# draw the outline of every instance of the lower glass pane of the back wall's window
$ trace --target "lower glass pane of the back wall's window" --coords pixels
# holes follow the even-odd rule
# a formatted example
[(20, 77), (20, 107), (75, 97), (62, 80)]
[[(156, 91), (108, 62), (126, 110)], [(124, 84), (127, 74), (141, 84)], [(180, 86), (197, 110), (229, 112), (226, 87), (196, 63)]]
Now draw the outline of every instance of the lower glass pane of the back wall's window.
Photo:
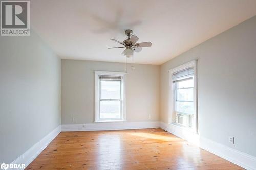
[(121, 101), (100, 101), (100, 119), (120, 119)]

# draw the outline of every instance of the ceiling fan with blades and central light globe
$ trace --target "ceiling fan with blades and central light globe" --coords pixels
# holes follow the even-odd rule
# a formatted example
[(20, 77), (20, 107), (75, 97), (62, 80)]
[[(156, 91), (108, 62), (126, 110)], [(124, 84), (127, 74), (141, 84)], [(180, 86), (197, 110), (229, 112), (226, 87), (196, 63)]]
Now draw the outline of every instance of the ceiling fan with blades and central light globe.
[(125, 34), (128, 36), (128, 39), (124, 40), (123, 42), (117, 41), (115, 39), (111, 39), (112, 41), (115, 41), (123, 46), (121, 47), (112, 47), (108, 49), (114, 49), (114, 48), (125, 48), (125, 50), (122, 52), (122, 54), (126, 57), (132, 57), (133, 52), (140, 52), (143, 47), (151, 47), (151, 42), (141, 42), (136, 43), (139, 38), (133, 34), (133, 30), (125, 30)]

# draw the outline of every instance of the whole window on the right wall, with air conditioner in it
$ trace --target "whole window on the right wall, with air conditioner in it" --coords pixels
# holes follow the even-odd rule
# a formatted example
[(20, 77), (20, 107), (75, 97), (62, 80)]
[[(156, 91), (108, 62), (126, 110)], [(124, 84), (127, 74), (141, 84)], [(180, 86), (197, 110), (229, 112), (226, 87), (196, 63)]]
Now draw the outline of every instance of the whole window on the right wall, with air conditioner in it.
[(197, 132), (196, 61), (169, 71), (169, 122)]

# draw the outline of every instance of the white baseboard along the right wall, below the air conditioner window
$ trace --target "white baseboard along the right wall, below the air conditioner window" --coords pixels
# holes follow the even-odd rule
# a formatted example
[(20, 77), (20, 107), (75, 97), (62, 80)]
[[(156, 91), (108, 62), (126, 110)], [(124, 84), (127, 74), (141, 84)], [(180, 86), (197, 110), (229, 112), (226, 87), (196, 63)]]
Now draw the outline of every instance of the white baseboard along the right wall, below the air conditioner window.
[(248, 155), (233, 148), (227, 147), (223, 144), (204, 138), (198, 134), (184, 130), (183, 128), (175, 126), (173, 124), (161, 122), (160, 127), (247, 170), (256, 170), (256, 157), (254, 156)]

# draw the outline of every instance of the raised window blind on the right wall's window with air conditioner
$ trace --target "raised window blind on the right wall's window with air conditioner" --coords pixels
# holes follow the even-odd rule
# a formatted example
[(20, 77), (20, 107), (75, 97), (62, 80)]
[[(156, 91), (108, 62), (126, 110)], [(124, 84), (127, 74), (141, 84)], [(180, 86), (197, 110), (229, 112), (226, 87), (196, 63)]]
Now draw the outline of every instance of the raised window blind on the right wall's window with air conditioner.
[(173, 83), (192, 79), (194, 75), (194, 68), (190, 67), (173, 74)]

